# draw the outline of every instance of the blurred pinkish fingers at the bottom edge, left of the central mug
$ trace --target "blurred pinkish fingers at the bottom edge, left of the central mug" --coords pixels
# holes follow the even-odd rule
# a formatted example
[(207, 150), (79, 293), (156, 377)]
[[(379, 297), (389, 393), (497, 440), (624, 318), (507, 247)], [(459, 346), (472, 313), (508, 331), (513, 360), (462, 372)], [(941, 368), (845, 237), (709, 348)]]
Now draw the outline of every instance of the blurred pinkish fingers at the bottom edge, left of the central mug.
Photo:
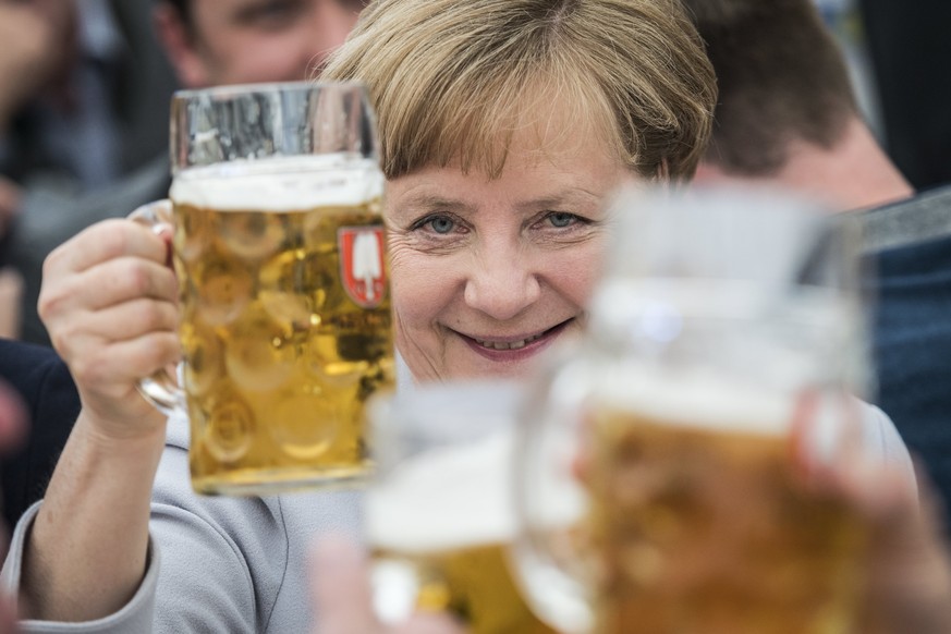
[(462, 634), (448, 614), (417, 614), (397, 626), (380, 624), (370, 601), (369, 564), (352, 541), (327, 537), (310, 558), (314, 634)]

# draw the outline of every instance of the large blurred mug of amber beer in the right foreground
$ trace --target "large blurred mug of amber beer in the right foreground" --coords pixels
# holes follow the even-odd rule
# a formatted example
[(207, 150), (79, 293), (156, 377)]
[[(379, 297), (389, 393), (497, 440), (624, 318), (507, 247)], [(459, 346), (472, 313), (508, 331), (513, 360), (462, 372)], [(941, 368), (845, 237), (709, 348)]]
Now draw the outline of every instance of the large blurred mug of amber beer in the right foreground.
[(585, 340), (519, 448), (533, 607), (573, 633), (854, 632), (866, 531), (804, 490), (793, 447), (830, 453), (857, 416), (856, 236), (766, 192), (614, 210)]

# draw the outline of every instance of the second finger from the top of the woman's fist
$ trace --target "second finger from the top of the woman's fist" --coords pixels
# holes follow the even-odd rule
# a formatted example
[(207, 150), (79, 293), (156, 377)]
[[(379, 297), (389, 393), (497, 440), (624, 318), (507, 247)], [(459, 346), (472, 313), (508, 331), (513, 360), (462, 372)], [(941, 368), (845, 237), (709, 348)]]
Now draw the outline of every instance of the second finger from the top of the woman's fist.
[(44, 321), (72, 317), (75, 308), (97, 310), (138, 297), (174, 301), (175, 273), (161, 263), (120, 257), (80, 273), (50, 279), (40, 290), (39, 315)]

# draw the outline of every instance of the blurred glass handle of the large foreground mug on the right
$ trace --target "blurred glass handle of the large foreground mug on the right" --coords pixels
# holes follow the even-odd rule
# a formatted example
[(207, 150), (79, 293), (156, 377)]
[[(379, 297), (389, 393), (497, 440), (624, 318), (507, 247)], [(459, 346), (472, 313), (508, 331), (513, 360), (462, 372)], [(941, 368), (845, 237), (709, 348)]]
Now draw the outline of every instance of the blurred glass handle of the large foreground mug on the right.
[[(558, 361), (558, 359), (556, 359)], [(549, 625), (586, 634), (594, 625), (589, 570), (578, 535), (588, 495), (581, 481), (584, 403), (593, 374), (586, 359), (548, 366), (529, 395), (515, 464), (517, 535), (511, 563), (526, 601)]]

